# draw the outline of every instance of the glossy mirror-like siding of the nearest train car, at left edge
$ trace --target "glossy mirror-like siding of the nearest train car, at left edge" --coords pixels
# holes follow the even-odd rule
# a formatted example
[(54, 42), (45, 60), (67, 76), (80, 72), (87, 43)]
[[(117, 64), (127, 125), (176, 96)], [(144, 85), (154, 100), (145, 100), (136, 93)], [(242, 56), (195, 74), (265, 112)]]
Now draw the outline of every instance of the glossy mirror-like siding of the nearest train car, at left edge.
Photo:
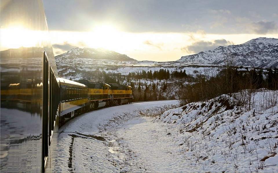
[[(48, 156), (48, 167), (54, 165), (55, 158), (50, 157), (55, 157), (55, 148), (51, 146), (56, 145), (50, 146), (50, 141), (55, 143), (57, 137), (54, 123), (57, 121), (57, 113), (54, 111), (57, 103), (49, 103), (50, 100), (58, 99), (47, 98), (44, 103), (47, 105), (47, 117), (44, 119), (44, 83), (52, 82), (45, 85), (47, 93), (58, 91), (55, 81), (58, 74), (52, 46), (48, 40), (43, 4), (41, 1), (33, 0), (1, 0), (0, 16), (0, 169), (1, 172), (41, 172), (44, 171), (44, 156)], [(45, 82), (44, 52), (49, 65)], [(46, 131), (43, 131), (43, 120), (46, 123)]]

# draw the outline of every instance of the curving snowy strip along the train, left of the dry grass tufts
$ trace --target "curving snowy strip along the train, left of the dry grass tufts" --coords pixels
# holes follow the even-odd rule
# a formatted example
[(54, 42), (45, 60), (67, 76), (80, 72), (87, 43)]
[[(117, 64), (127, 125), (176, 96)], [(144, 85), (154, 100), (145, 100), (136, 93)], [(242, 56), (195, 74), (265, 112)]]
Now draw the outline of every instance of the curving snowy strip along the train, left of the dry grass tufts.
[(59, 129), (55, 172), (120, 172), (123, 158), (111, 149), (114, 130), (127, 120), (138, 118), (138, 109), (172, 104), (178, 101), (132, 103), (99, 109), (70, 120)]

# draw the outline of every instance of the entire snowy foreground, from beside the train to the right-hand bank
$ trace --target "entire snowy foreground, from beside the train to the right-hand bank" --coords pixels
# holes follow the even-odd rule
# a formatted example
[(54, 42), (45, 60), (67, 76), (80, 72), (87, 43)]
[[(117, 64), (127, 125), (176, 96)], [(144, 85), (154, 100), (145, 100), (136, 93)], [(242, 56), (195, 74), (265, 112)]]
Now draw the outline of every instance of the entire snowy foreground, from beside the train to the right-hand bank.
[(178, 101), (156, 101), (79, 116), (60, 129), (55, 170), (278, 172), (278, 91), (251, 94), (250, 109), (238, 105), (244, 92), (178, 108), (171, 105)]

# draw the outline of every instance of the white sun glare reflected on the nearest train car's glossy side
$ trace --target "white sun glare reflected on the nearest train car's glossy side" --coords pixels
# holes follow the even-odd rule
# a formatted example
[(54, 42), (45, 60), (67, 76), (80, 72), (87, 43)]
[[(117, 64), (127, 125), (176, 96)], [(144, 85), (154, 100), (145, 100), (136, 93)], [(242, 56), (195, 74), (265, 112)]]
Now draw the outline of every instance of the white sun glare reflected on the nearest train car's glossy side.
[(1, 28), (1, 51), (41, 46), (41, 40), (47, 40), (47, 34), (46, 31), (34, 31), (22, 26)]

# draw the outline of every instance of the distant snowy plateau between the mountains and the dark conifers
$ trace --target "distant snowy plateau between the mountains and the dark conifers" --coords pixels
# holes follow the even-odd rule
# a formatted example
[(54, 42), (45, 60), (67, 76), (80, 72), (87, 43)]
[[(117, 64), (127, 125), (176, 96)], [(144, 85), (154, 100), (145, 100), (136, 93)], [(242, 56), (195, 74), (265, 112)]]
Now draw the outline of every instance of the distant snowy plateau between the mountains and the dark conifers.
[[(216, 75), (223, 67), (211, 64), (184, 64), (180, 62), (149, 62), (149, 61), (113, 61), (101, 59), (56, 59), (58, 73), (61, 77), (72, 78), (73, 80), (83, 79), (87, 73), (94, 74), (95, 70), (106, 73), (120, 73), (128, 75), (129, 72), (146, 72), (160, 69), (169, 70), (170, 73), (175, 70), (185, 70), (186, 74), (196, 75)], [(74, 65), (73, 65), (74, 64)]]

